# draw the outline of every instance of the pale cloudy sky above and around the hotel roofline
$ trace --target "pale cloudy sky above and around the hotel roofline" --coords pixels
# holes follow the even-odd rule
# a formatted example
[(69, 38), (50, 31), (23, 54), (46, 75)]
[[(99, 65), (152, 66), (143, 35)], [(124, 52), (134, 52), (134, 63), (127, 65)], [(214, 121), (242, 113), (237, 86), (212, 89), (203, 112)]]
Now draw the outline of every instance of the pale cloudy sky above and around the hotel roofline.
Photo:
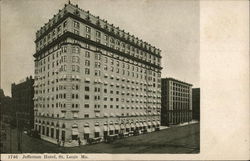
[[(35, 33), (68, 0), (1, 1), (1, 88), (34, 76)], [(200, 86), (199, 1), (71, 0), (162, 50), (162, 77)]]

